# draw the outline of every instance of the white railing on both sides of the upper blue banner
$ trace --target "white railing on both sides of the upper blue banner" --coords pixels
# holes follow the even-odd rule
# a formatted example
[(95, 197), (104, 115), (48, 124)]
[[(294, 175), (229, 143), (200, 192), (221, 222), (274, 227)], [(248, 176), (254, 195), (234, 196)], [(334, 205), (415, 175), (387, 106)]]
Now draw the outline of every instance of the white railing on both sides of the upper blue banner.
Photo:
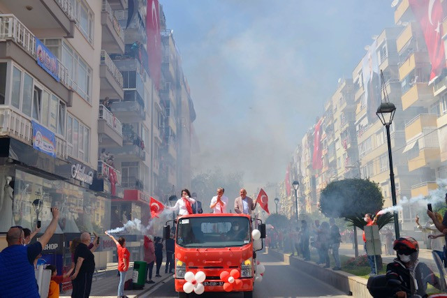
[[(36, 36), (34, 36), (15, 15), (0, 15), (0, 40), (13, 40), (28, 54), (36, 59)], [(71, 77), (68, 69), (57, 59), (57, 74), (66, 87), (71, 88)]]

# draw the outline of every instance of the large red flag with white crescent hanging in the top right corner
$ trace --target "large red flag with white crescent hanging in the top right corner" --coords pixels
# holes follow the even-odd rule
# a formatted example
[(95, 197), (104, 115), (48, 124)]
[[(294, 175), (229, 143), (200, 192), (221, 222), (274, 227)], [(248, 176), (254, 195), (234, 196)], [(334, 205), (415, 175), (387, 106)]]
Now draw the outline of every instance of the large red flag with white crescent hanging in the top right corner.
[(428, 57), (432, 64), (432, 71), (430, 73), (431, 82), (441, 74), (443, 68), (446, 68), (444, 42), (442, 40), (442, 36), (444, 35), (442, 29), (444, 12), (442, 10), (441, 0), (409, 0), (409, 4), (424, 33)]

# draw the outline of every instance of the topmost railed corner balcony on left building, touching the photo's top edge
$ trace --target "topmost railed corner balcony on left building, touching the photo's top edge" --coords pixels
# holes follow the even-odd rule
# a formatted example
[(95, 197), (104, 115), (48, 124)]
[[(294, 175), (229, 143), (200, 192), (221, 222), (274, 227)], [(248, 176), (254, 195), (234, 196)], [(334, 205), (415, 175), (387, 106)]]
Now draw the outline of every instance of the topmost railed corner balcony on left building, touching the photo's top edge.
[(110, 53), (124, 53), (124, 30), (119, 24), (107, 0), (103, 0), (101, 11), (103, 36), (101, 47)]

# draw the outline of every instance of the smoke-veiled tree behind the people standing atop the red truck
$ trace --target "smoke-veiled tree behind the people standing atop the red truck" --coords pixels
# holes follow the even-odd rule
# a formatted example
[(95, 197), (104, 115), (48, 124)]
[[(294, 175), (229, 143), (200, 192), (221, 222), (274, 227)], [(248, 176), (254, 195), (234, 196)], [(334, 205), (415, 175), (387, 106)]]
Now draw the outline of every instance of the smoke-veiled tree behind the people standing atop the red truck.
[(215, 167), (213, 171), (197, 174), (191, 180), (191, 193), (197, 193), (198, 200), (202, 202), (203, 211), (210, 211), (211, 198), (216, 195), (217, 188), (225, 188), (225, 195), (230, 199), (227, 211), (233, 209), (234, 198), (239, 196), (239, 191), (243, 187), (243, 173), (234, 172), (223, 174), (220, 167)]

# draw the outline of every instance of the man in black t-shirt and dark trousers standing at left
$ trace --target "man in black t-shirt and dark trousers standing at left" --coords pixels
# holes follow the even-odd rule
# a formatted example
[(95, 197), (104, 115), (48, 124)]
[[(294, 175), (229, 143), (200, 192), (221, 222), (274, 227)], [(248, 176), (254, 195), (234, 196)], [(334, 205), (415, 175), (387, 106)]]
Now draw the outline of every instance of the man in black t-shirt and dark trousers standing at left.
[(89, 297), (91, 279), (95, 271), (95, 258), (87, 245), (91, 242), (88, 232), (81, 234), (81, 243), (75, 250), (75, 273), (71, 276), (73, 291), (71, 297)]

